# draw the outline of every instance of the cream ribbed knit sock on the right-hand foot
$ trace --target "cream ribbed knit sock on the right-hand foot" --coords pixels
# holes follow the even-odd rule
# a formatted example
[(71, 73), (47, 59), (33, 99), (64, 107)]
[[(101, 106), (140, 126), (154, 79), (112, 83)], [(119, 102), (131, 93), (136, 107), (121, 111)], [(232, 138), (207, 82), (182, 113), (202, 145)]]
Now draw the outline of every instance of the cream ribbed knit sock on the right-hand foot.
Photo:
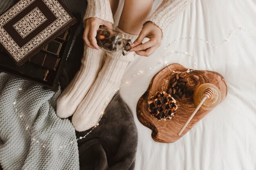
[[(121, 31), (117, 28), (117, 31)], [(124, 33), (126, 39), (132, 42), (137, 35)], [(121, 85), (121, 79), (129, 62), (133, 60), (134, 53), (123, 56), (121, 53), (106, 53), (106, 61), (99, 75), (92, 85), (92, 88), (79, 104), (72, 117), (72, 124), (77, 131), (84, 131), (92, 128), (99, 121), (102, 113), (115, 95)]]

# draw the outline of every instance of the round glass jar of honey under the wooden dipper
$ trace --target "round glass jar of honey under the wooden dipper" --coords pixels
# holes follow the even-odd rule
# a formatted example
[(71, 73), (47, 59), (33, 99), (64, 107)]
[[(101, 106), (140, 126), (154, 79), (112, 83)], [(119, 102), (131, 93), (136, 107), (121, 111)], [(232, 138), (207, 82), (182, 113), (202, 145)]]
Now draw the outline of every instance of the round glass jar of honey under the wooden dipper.
[(198, 104), (200, 104), (200, 102), (204, 98), (203, 93), (206, 88), (211, 88), (214, 91), (214, 93), (209, 99), (206, 99), (204, 101), (201, 108), (203, 108), (204, 110), (211, 110), (220, 103), (220, 99), (221, 99), (220, 90), (214, 84), (204, 83), (204, 84), (201, 84), (200, 86), (197, 86), (193, 93), (193, 99), (194, 99), (195, 105), (198, 106)]

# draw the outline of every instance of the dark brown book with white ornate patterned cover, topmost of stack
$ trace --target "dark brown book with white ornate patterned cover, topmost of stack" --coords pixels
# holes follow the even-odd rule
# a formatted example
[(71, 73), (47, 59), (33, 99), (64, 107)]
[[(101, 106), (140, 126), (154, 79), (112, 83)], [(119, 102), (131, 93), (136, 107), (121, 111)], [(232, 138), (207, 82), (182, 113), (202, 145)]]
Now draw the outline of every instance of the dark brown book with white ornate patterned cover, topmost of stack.
[(60, 0), (20, 0), (0, 16), (0, 46), (22, 65), (75, 22)]

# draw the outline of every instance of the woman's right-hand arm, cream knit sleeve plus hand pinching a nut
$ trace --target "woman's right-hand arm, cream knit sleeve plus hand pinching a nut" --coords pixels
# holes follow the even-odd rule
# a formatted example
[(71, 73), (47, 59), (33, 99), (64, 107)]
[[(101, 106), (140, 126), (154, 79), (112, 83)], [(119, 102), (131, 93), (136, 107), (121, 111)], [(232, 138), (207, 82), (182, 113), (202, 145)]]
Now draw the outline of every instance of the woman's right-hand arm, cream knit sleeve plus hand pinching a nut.
[[(163, 0), (157, 10), (146, 20), (137, 40), (131, 44), (130, 51), (136, 51), (138, 55), (149, 56), (161, 45), (161, 41), (171, 22), (184, 11), (192, 0)], [(148, 42), (142, 44), (144, 38)]]

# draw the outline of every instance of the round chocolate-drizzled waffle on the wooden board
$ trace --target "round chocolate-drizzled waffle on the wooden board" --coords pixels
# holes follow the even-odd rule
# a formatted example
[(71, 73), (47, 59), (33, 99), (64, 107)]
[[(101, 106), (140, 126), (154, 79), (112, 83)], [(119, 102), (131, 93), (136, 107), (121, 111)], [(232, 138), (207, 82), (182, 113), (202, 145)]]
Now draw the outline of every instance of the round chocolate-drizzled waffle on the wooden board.
[(148, 111), (152, 117), (158, 121), (172, 119), (178, 106), (176, 100), (165, 91), (157, 92), (155, 96), (150, 97), (148, 101)]

